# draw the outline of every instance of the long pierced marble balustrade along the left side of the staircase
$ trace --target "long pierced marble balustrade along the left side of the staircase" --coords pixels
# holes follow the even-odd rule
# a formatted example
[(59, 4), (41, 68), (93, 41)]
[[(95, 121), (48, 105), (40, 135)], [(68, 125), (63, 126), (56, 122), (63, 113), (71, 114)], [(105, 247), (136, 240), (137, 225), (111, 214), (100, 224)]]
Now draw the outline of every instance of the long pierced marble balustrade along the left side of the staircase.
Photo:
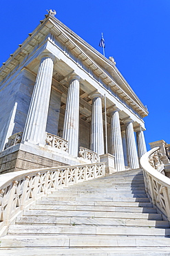
[(105, 163), (67, 165), (1, 174), (0, 235), (26, 205), (39, 199), (43, 194), (104, 175)]

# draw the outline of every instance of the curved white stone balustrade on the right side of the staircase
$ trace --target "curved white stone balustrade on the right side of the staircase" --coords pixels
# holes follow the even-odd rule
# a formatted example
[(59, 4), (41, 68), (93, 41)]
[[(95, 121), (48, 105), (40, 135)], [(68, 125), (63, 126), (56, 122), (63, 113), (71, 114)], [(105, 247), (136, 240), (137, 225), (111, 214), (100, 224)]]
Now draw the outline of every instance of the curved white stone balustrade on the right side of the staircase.
[(159, 147), (154, 147), (140, 158), (144, 171), (145, 190), (149, 194), (153, 205), (156, 205), (170, 221), (170, 179), (149, 163), (149, 157), (157, 152)]

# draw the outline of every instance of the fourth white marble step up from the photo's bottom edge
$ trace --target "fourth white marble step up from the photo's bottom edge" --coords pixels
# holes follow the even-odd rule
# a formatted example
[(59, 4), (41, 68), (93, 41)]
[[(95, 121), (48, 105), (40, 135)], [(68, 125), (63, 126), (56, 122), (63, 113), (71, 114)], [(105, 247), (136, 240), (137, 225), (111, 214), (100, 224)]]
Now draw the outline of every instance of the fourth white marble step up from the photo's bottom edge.
[(107, 219), (86, 217), (17, 217), (17, 224), (62, 224), (62, 225), (98, 225), (98, 226), (140, 226), (149, 228), (169, 228), (169, 221), (149, 221), (147, 219)]

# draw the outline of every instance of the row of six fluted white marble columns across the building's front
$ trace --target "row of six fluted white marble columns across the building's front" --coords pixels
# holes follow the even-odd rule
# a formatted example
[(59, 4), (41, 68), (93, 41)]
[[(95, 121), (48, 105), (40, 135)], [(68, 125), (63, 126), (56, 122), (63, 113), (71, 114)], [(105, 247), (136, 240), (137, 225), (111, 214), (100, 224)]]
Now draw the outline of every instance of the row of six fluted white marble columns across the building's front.
[[(47, 123), (55, 57), (51, 53), (42, 53), (40, 60), (39, 71), (36, 76), (22, 141), (30, 141), (43, 145), (45, 141), (45, 127)], [(69, 153), (72, 154), (72, 156), (78, 156), (80, 80), (81, 77), (78, 77), (78, 75), (70, 75), (70, 85), (65, 108), (63, 138), (68, 141)], [(90, 149), (101, 155), (105, 152), (102, 111), (103, 95), (95, 92), (90, 95), (90, 97), (92, 98)], [(139, 127), (139, 129), (136, 130), (135, 139), (133, 120), (125, 118), (122, 120), (125, 123), (125, 137), (123, 138), (120, 129), (119, 111), (120, 110), (115, 105), (109, 108), (111, 118), (111, 154), (115, 156), (116, 170), (125, 170), (125, 145), (129, 167), (133, 169), (138, 168), (138, 158), (147, 152), (144, 134), (141, 127)]]

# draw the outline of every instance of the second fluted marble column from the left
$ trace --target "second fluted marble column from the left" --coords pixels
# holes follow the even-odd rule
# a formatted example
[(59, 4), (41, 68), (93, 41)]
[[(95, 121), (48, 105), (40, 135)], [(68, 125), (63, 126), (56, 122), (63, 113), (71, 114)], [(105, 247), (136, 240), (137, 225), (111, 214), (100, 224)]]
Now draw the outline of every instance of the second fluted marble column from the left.
[(72, 156), (78, 156), (79, 80), (80, 77), (78, 75), (70, 76), (63, 128), (63, 138), (68, 141), (69, 153)]

